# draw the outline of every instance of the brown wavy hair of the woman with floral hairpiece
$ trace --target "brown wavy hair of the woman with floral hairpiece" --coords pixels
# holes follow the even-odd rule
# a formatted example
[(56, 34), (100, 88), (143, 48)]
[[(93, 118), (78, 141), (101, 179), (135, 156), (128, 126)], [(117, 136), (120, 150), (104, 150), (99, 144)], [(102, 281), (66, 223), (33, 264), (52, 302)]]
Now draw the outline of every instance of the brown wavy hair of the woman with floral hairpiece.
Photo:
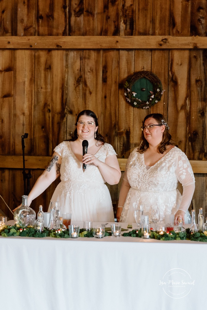
[[(166, 118), (162, 114), (160, 114), (160, 113), (152, 113), (152, 114), (147, 115), (144, 118), (142, 126), (144, 126), (144, 123), (145, 123), (146, 119), (150, 118), (150, 117), (153, 117), (158, 122), (159, 125), (163, 125), (162, 124), (162, 120), (164, 120), (164, 123), (167, 124), (167, 120), (166, 120)], [(168, 130), (169, 130), (169, 127), (165, 126), (165, 129), (164, 129), (164, 132), (163, 132), (163, 136), (162, 136), (162, 141), (160, 142), (160, 144), (157, 147), (158, 152), (161, 153), (161, 154), (164, 153), (164, 151), (167, 149), (168, 145), (175, 145), (175, 143), (173, 142), (172, 137), (169, 134)], [(139, 144), (137, 152), (142, 154), (142, 153), (144, 153), (148, 149), (148, 147), (149, 147), (149, 143), (145, 139), (144, 132), (142, 131), (141, 142)]]

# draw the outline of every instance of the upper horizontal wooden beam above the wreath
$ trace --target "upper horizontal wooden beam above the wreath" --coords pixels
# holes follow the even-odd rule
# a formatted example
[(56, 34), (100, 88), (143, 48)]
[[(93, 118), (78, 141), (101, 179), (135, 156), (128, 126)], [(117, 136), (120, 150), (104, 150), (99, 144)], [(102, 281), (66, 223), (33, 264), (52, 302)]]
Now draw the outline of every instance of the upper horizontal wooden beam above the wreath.
[(202, 49), (207, 37), (4, 36), (0, 49)]

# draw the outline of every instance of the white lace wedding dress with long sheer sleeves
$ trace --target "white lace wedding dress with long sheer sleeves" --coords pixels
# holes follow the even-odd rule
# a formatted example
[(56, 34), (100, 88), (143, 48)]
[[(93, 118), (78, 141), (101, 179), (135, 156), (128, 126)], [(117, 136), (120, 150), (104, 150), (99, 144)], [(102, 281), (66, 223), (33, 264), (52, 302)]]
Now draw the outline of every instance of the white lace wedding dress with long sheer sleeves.
[[(195, 189), (195, 178), (190, 162), (179, 148), (172, 148), (154, 166), (147, 167), (144, 154), (137, 148), (130, 154), (124, 179), (131, 188), (126, 197), (120, 222), (134, 223), (133, 203), (142, 203), (144, 214), (151, 215), (153, 206), (160, 210), (160, 222), (165, 214), (175, 214), (178, 209), (186, 211), (185, 224), (191, 223), (188, 207)], [(183, 195), (178, 191), (178, 181), (182, 184)]]

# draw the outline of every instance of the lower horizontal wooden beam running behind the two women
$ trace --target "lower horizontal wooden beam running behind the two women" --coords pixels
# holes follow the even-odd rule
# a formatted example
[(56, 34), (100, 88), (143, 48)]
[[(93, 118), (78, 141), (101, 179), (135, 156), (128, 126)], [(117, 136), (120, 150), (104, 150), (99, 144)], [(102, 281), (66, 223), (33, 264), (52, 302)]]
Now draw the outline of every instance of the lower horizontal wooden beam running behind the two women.
[[(45, 169), (51, 156), (25, 156), (26, 169)], [(127, 159), (118, 158), (121, 171), (125, 171)], [(207, 161), (190, 160), (194, 173), (207, 173)], [(22, 156), (4, 156), (0, 155), (0, 168), (23, 169)]]

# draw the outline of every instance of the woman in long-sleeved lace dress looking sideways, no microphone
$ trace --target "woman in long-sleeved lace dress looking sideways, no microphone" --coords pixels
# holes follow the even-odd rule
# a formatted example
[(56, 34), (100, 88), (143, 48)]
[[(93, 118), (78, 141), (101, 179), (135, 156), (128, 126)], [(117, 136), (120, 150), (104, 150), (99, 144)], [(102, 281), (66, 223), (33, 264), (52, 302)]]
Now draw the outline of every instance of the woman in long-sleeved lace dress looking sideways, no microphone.
[[(169, 126), (160, 113), (149, 114), (142, 125), (141, 142), (130, 154), (119, 193), (117, 221), (135, 222), (133, 203), (144, 205), (144, 214), (159, 208), (160, 222), (165, 214), (174, 214), (183, 224), (191, 223), (188, 211), (195, 190), (190, 162), (169, 134)], [(178, 182), (183, 193), (178, 191)]]

